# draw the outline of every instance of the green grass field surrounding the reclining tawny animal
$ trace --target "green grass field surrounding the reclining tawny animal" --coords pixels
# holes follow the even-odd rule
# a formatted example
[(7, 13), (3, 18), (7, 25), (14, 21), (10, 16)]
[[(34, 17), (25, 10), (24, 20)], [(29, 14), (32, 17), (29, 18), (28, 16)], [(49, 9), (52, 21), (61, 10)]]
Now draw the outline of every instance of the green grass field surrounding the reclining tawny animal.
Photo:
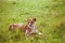
[[(9, 31), (10, 24), (31, 17), (44, 37)], [(65, 43), (65, 0), (0, 0), (0, 43)]]

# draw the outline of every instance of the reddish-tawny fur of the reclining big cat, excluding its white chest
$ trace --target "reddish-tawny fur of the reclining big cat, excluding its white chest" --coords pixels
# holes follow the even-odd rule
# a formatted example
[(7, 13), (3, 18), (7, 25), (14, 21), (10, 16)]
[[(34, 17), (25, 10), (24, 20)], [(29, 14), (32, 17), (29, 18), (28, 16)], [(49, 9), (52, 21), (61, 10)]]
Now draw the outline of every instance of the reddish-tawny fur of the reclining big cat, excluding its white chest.
[[(31, 19), (27, 19), (27, 24), (25, 24), (25, 25), (23, 25), (23, 24), (11, 24), (9, 26), (9, 30), (14, 31), (15, 29), (21, 29), (26, 34), (29, 34), (31, 32), (31, 29), (32, 29), (30, 27), (34, 26), (35, 22), (36, 22), (36, 18), (31, 18)], [(28, 27), (28, 26), (30, 26), (30, 27)]]

